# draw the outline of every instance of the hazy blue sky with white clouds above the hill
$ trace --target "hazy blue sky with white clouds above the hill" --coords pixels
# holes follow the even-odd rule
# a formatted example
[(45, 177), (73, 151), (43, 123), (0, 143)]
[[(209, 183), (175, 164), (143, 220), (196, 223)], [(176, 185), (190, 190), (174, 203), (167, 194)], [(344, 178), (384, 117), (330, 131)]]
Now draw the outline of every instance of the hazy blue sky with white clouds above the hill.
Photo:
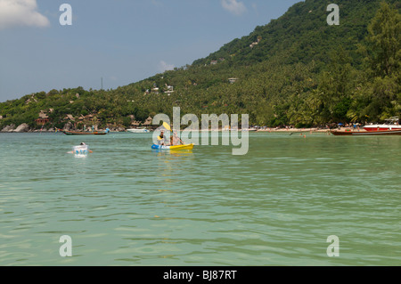
[[(299, 0), (0, 0), (0, 101), (191, 64)], [(61, 4), (72, 25), (61, 26)]]

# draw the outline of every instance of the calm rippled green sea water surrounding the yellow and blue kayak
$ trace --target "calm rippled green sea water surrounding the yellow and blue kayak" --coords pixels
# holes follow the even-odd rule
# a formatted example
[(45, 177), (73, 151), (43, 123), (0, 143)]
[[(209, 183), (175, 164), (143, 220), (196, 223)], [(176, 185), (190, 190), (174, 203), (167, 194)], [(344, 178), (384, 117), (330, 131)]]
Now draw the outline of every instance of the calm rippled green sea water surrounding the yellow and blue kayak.
[[(93, 153), (68, 154), (79, 142)], [(252, 133), (232, 149), (0, 134), (0, 265), (401, 264), (400, 136)]]

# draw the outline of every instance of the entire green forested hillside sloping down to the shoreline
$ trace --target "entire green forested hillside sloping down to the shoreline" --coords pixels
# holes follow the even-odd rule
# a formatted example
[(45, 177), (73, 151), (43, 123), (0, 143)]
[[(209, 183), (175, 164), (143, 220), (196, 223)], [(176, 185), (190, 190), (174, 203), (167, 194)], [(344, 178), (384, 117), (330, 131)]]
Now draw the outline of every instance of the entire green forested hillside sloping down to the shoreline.
[[(0, 129), (47, 117), (132, 126), (157, 113), (250, 114), (259, 126), (319, 126), (378, 121), (401, 111), (401, 4), (338, 0), (340, 25), (329, 25), (331, 1), (307, 0), (216, 53), (115, 90), (81, 87), (32, 93), (0, 103)], [(45, 115), (44, 115), (45, 113)]]

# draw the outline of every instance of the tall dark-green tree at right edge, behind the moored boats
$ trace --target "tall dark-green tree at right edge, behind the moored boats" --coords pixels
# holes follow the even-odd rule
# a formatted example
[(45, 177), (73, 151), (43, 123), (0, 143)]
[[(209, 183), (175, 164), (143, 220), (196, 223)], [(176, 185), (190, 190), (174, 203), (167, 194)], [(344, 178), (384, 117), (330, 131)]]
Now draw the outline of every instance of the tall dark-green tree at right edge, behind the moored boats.
[[(368, 27), (364, 47), (367, 70), (354, 98), (353, 110), (359, 117), (383, 120), (400, 114), (401, 15), (382, 2)], [(356, 111), (351, 111), (355, 115)]]

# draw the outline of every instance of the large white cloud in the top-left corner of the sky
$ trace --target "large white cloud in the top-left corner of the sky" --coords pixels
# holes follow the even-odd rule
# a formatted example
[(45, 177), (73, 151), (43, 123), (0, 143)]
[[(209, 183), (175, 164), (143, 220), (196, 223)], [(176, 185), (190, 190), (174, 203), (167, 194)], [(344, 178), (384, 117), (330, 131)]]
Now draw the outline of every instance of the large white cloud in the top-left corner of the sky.
[(37, 0), (0, 0), (0, 29), (48, 25), (49, 20), (37, 12)]

